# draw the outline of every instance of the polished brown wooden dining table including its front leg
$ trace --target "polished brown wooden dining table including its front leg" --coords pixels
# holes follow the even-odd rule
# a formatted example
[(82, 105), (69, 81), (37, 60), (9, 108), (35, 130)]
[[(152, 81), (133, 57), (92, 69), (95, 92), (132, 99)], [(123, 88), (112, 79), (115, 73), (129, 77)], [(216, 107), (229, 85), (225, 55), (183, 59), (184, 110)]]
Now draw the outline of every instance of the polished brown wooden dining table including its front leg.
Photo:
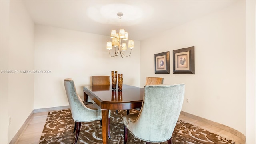
[(144, 88), (124, 84), (122, 90), (112, 85), (84, 86), (84, 101), (88, 96), (100, 107), (102, 114), (103, 144), (108, 143), (109, 110), (130, 110), (141, 108)]

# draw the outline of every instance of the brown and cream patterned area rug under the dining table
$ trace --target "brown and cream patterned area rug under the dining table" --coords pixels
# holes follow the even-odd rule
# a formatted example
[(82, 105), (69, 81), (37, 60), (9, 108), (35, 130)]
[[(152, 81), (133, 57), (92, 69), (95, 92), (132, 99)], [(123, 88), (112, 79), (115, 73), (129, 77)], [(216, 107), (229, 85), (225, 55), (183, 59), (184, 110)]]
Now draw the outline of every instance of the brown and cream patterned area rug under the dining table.
[[(130, 113), (136, 111), (130, 110)], [(124, 143), (124, 127), (122, 116), (124, 110), (119, 110), (118, 114), (113, 110), (110, 118), (110, 136), (108, 144)], [(40, 144), (74, 144), (75, 133), (74, 121), (72, 120), (70, 109), (49, 112)], [(193, 126), (187, 122), (178, 120), (172, 134), (173, 144), (234, 144), (228, 140), (207, 130)], [(77, 144), (102, 144), (102, 127), (100, 120), (82, 123)], [(146, 142), (135, 138), (128, 130), (127, 144), (146, 144)], [(167, 144), (161, 142), (158, 144)]]

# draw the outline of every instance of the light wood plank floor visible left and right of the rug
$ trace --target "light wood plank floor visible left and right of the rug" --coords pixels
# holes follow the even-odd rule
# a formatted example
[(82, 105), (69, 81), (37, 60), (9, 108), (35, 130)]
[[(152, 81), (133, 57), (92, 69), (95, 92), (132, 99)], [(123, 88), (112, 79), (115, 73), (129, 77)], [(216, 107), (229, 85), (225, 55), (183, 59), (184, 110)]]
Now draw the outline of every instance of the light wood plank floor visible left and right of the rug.
[[(14, 144), (38, 144), (42, 130), (44, 128), (44, 124), (47, 118), (48, 112), (40, 112), (34, 113), (28, 125), (24, 128), (23, 132), (20, 134), (20, 137)], [(180, 120), (218, 134), (224, 138), (228, 138), (235, 141), (235, 144), (245, 144), (239, 137), (231, 134), (225, 130), (221, 130), (220, 128), (216, 128), (214, 126), (204, 124), (198, 120), (194, 120), (184, 115), (180, 115)]]

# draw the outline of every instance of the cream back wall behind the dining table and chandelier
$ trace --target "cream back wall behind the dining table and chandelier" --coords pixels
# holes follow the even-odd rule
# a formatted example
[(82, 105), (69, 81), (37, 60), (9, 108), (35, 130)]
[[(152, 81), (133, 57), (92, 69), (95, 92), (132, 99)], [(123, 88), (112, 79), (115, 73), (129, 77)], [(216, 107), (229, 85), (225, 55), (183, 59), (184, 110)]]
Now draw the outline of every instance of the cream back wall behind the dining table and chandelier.
[(91, 85), (93, 75), (123, 73), (124, 84), (140, 86), (140, 42), (129, 57), (110, 57), (106, 42), (110, 36), (36, 25), (34, 109), (68, 105), (63, 80), (72, 78), (80, 97), (83, 86)]

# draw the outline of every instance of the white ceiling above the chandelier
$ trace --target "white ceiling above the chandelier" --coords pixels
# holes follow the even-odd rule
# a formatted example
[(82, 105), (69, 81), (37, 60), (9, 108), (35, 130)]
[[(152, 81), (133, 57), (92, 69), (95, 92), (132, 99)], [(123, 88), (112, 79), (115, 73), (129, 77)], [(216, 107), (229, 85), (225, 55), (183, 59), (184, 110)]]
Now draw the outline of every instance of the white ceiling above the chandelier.
[(110, 36), (121, 28), (131, 40), (144, 40), (235, 0), (23, 0), (35, 24)]

